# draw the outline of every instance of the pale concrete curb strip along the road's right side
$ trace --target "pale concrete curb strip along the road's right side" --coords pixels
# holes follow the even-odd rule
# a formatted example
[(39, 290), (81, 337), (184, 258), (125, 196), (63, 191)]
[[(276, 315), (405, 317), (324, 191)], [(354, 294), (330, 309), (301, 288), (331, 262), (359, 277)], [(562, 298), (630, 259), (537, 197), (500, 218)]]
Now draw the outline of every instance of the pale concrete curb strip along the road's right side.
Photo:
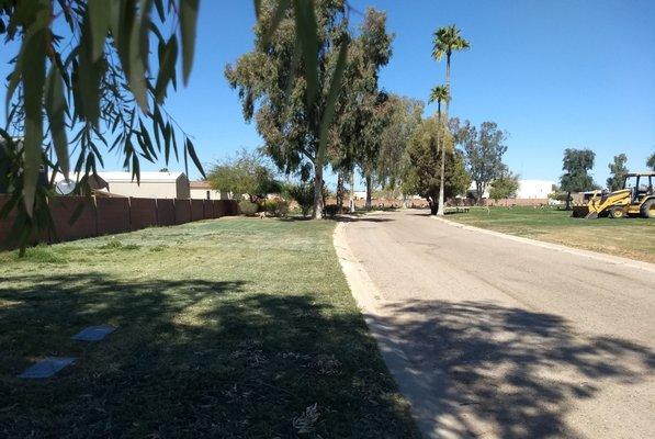
[(443, 218), (440, 216), (430, 215), (430, 217), (432, 219), (439, 221), (439, 222), (448, 224), (450, 226), (458, 227), (458, 228), (468, 230), (468, 232), (483, 233), (486, 235), (492, 235), (492, 236), (497, 236), (499, 238), (513, 240), (516, 243), (529, 244), (529, 245), (545, 248), (549, 250), (565, 252), (565, 254), (576, 255), (576, 256), (583, 256), (583, 257), (599, 260), (602, 262), (608, 262), (608, 263), (613, 263), (613, 264), (624, 266), (624, 267), (630, 267), (630, 268), (636, 268), (636, 269), (644, 270), (644, 271), (647, 271), (651, 273), (655, 273), (655, 263), (639, 261), (639, 260), (634, 260), (634, 259), (630, 259), (630, 258), (623, 258), (620, 256), (600, 254), (598, 251), (584, 250), (584, 249), (575, 248), (575, 247), (567, 247), (562, 244), (554, 244), (554, 243), (547, 243), (544, 240), (524, 238), (522, 236), (509, 235), (509, 234), (505, 234), (502, 232), (490, 230), (488, 228), (475, 227), (475, 226), (470, 226), (467, 224), (456, 223), (454, 221), (450, 221), (450, 219), (447, 219), (447, 218)]

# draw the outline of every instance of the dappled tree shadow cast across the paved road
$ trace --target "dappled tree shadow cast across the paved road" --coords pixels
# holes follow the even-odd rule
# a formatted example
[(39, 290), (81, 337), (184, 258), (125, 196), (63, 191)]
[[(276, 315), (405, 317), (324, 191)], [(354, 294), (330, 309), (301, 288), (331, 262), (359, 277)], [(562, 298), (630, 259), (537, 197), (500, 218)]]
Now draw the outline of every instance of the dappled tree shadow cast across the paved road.
[[(441, 301), (388, 305), (386, 311), (403, 318), (375, 317), (398, 340), (384, 349), (403, 350), (413, 364), (410, 385), (426, 396), (422, 407), (433, 410), (421, 416), (436, 414), (442, 432), (454, 437), (475, 436), (473, 425), (482, 425), (495, 431), (493, 437), (577, 438), (575, 425), (565, 420), (576, 403), (592, 399), (609, 384), (645, 384), (655, 367), (647, 347), (574, 335), (552, 314)], [(625, 428), (613, 434), (647, 436), (647, 395), (628, 393), (629, 407), (610, 401), (618, 413), (609, 409), (609, 418), (617, 416)]]

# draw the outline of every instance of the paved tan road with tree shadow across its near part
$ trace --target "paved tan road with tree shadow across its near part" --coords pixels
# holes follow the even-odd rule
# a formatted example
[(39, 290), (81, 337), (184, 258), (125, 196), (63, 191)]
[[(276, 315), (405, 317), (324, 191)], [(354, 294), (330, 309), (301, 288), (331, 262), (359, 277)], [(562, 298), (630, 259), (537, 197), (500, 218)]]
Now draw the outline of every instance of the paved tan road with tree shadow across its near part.
[(655, 437), (653, 267), (419, 212), (342, 227), (376, 288), (369, 324), (427, 437)]

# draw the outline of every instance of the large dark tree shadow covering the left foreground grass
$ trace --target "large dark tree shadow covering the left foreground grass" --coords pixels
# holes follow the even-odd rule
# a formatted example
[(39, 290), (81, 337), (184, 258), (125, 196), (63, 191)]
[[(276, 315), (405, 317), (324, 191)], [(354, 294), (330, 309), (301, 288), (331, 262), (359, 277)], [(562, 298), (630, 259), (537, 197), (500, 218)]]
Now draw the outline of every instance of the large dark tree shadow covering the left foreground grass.
[[(417, 437), (354, 308), (248, 286), (0, 278), (0, 437)], [(105, 323), (105, 340), (70, 340)], [(16, 378), (45, 356), (78, 361)]]

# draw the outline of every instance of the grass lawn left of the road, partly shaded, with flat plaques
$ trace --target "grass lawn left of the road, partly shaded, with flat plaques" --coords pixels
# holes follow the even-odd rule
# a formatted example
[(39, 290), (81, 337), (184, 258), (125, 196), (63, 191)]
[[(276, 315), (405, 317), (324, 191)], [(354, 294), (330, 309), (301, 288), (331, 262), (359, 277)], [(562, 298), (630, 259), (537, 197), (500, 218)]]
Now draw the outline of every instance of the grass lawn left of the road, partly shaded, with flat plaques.
[[(0, 254), (0, 437), (417, 437), (334, 227), (223, 218)], [(70, 339), (100, 324), (120, 328)], [(78, 360), (16, 378), (47, 356)]]

